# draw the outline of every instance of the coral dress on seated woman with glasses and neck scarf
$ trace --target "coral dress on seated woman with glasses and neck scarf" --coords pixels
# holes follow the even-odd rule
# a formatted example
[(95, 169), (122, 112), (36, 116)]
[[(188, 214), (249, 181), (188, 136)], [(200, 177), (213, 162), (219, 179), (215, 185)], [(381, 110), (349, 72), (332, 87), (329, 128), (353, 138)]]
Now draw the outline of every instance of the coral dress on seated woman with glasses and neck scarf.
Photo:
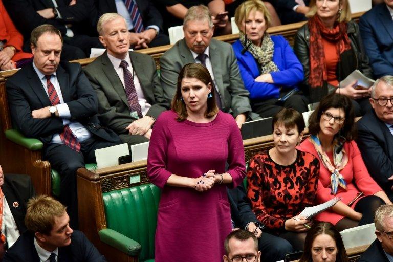
[[(329, 187), (331, 183), (331, 172), (322, 164), (314, 145), (309, 141), (309, 139), (306, 139), (297, 148), (305, 152), (310, 152), (319, 160), (320, 170), (317, 188), (317, 204), (333, 199), (335, 195), (331, 194), (331, 188)], [(342, 174), (346, 181), (347, 190), (339, 187), (336, 196), (341, 197), (341, 201), (348, 204), (356, 198), (358, 192), (364, 192), (364, 196), (366, 196), (374, 195), (376, 192), (382, 191), (381, 187), (370, 177), (356, 142), (345, 142), (344, 149), (348, 155), (348, 163), (345, 165), (344, 169), (340, 171), (340, 174)], [(352, 209), (355, 208), (359, 199), (352, 204)], [(344, 216), (328, 209), (315, 216), (315, 219), (331, 222), (333, 225), (336, 225), (336, 223), (343, 217)]]

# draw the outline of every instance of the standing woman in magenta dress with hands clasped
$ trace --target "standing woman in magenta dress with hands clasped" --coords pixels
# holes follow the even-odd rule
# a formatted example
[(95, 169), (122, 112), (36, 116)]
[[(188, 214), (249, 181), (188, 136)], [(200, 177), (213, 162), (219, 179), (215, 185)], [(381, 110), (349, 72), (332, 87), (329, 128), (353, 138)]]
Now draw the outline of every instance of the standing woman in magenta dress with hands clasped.
[(162, 188), (156, 262), (221, 261), (224, 255), (232, 230), (226, 187), (242, 183), (246, 167), (240, 131), (218, 110), (214, 91), (203, 65), (186, 64), (172, 110), (153, 128), (147, 174)]

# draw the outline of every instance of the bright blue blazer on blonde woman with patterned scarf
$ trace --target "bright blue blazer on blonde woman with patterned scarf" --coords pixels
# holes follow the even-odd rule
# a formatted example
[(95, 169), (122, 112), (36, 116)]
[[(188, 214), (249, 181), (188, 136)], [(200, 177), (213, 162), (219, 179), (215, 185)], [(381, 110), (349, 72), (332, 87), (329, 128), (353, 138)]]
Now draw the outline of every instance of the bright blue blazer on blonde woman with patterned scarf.
[(274, 81), (273, 84), (255, 82), (255, 78), (260, 75), (255, 58), (248, 51), (242, 54), (243, 45), (240, 40), (232, 45), (244, 86), (250, 92), (250, 99), (278, 98), (281, 86), (294, 88), (303, 81), (303, 67), (288, 41), (281, 35), (271, 36), (271, 39), (274, 43), (273, 62), (280, 70), (270, 73)]

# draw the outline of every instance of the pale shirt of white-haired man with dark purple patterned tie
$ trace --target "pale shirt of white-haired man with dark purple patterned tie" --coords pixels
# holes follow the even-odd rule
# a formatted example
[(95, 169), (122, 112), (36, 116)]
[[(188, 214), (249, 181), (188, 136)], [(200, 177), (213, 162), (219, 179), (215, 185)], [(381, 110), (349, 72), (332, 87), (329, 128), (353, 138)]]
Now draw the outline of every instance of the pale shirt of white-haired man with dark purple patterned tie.
[[(123, 68), (120, 67), (120, 62), (122, 60), (119, 58), (116, 58), (108, 53), (106, 53), (106, 54), (108, 55), (109, 60), (111, 60), (111, 63), (113, 65), (117, 75), (119, 76), (120, 81), (123, 84), (123, 88), (125, 90), (124, 72), (123, 72)], [(147, 100), (145, 99), (145, 96), (143, 95), (141, 83), (139, 82), (139, 78), (138, 78), (137, 74), (135, 74), (135, 71), (133, 69), (133, 65), (131, 63), (131, 59), (129, 58), (128, 52), (127, 52), (127, 56), (124, 58), (124, 60), (128, 63), (127, 69), (129, 70), (129, 72), (131, 72), (131, 74), (134, 77), (134, 85), (135, 85), (135, 90), (137, 91), (137, 95), (138, 95), (138, 103), (141, 106), (142, 115), (145, 116), (146, 113), (149, 111), (151, 104), (149, 104), (147, 102)]]

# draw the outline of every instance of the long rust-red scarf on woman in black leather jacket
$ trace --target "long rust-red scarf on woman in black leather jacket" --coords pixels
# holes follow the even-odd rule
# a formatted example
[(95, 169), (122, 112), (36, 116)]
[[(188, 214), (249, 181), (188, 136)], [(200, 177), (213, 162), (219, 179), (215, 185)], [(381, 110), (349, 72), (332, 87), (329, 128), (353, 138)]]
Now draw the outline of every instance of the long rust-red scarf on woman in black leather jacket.
[(325, 53), (322, 38), (337, 45), (338, 55), (345, 50), (351, 49), (351, 40), (346, 34), (345, 22), (335, 23), (333, 28), (327, 28), (321, 22), (318, 15), (314, 15), (308, 21), (310, 30), (310, 77), (309, 84), (312, 88), (322, 86), (323, 81), (328, 79), (326, 70)]

